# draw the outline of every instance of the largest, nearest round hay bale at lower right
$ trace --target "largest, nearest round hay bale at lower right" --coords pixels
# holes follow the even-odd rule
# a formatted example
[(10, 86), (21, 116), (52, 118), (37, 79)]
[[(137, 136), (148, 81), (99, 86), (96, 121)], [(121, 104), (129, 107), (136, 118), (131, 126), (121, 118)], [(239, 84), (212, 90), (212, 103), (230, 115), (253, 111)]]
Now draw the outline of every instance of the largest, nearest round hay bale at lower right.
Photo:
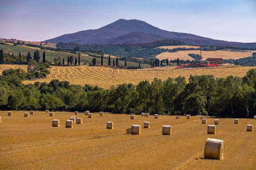
[(208, 138), (204, 146), (204, 158), (219, 159), (224, 157), (224, 141)]

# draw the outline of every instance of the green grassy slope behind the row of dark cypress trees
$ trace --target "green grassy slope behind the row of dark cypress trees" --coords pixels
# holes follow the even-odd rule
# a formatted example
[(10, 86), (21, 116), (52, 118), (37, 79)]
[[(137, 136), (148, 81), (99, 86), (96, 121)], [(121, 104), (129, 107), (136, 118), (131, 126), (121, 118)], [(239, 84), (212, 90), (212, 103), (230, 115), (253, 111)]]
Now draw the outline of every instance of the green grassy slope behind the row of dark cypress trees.
[[(32, 57), (34, 54), (34, 51), (36, 51), (37, 49), (40, 51), (40, 55), (41, 55), (41, 59), (42, 59), (42, 54), (43, 54), (43, 50), (41, 50), (40, 48), (37, 47), (30, 47), (30, 46), (12, 46), (12, 45), (2, 45), (0, 44), (0, 49), (3, 49), (4, 52), (10, 52), (10, 53), (14, 53), (16, 55), (19, 55), (19, 53), (21, 52), (21, 55), (26, 56), (27, 52), (31, 52)], [(67, 62), (67, 55), (73, 55), (74, 59), (75, 57), (78, 58), (78, 54), (73, 54), (73, 53), (69, 53), (69, 52), (54, 52), (54, 51), (48, 51), (45, 50), (46, 52), (46, 59), (53, 61), (54, 58), (58, 58), (61, 57), (61, 62), (63, 57), (65, 58), (65, 62)], [(92, 59), (93, 57), (88, 56), (86, 54), (82, 54), (81, 55), (81, 65), (84, 64), (86, 62), (87, 65), (89, 65), (89, 63), (92, 63)], [(96, 58), (97, 62), (100, 61), (101, 59)], [(111, 60), (111, 65), (113, 61)], [(119, 60), (118, 61), (119, 65), (124, 65), (124, 61)], [(103, 64), (104, 65), (108, 65), (108, 59), (103, 59)], [(127, 66), (139, 66), (138, 63), (133, 63), (133, 62), (127, 62)], [(141, 64), (141, 66), (143, 67), (149, 67), (149, 65), (144, 65)]]

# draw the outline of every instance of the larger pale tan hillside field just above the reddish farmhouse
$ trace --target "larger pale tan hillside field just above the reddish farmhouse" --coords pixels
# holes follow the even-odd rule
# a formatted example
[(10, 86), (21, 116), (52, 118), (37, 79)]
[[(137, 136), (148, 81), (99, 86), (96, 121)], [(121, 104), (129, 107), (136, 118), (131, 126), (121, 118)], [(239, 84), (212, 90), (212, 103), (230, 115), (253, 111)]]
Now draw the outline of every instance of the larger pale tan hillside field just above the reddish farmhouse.
[[(245, 57), (252, 56), (252, 52), (229, 52), (229, 51), (202, 51), (202, 59), (205, 60), (207, 58), (222, 58), (222, 59), (240, 59)], [(162, 52), (161, 54), (157, 55), (156, 58), (162, 59), (184, 59), (184, 60), (194, 60), (190, 57), (189, 53), (200, 54), (200, 50), (188, 50), (188, 51), (178, 51), (178, 52)]]

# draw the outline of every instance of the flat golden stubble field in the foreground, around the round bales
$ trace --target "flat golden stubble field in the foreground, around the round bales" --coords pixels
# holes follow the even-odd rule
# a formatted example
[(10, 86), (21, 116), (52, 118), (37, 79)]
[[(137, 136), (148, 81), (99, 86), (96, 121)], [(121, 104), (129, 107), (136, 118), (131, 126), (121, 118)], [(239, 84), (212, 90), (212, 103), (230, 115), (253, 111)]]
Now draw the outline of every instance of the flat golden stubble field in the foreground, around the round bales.
[[(256, 166), (256, 133), (247, 132), (246, 125), (256, 125), (254, 119), (219, 119), (216, 135), (207, 134), (207, 125), (199, 117), (154, 116), (93, 113), (88, 118), (83, 113), (49, 113), (35, 111), (24, 118), (24, 111), (0, 111), (0, 169), (47, 170), (253, 170)], [(70, 116), (82, 118), (83, 124), (65, 128)], [(60, 127), (52, 127), (52, 120), (60, 119)], [(107, 121), (114, 122), (114, 129), (106, 129)], [(143, 122), (150, 122), (150, 129)], [(132, 124), (141, 125), (141, 135), (128, 135)], [(172, 125), (172, 135), (162, 136), (162, 125)], [(207, 138), (224, 140), (224, 159), (204, 159)]]

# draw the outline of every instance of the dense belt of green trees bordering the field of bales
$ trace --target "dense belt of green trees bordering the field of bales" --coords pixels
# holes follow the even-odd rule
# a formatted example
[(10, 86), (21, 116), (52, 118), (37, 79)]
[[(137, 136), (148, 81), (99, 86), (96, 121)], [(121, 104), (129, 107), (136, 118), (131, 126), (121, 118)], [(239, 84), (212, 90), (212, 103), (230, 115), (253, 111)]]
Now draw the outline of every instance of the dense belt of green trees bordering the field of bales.
[[(29, 71), (29, 70), (28, 70)], [(40, 72), (40, 71), (38, 71)], [(24, 85), (27, 74), (9, 69), (0, 76), (0, 110), (108, 111), (249, 118), (256, 112), (256, 69), (243, 78), (210, 75), (168, 78), (111, 89), (52, 80)]]

